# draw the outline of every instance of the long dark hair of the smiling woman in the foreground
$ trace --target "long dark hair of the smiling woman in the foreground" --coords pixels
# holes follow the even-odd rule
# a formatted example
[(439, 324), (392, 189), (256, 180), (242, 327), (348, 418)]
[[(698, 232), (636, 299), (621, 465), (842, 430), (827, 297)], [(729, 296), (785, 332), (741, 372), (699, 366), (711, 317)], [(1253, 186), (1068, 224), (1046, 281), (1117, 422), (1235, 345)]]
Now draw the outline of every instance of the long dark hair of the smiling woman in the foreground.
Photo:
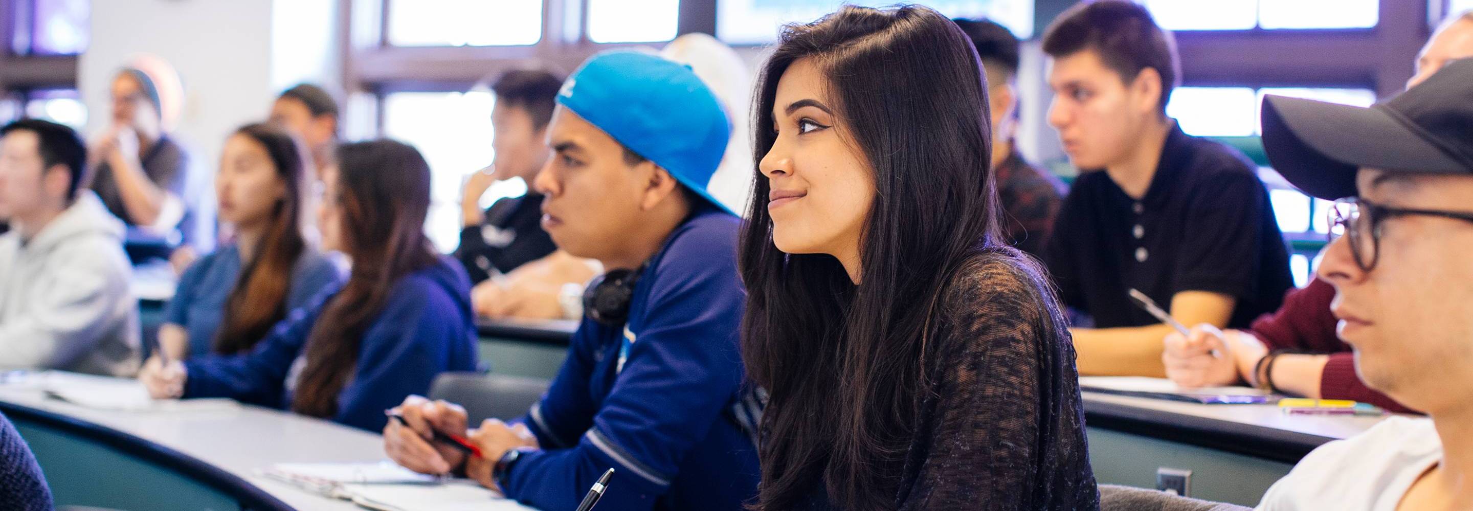
[[(823, 480), (838, 508), (894, 505), (944, 284), (996, 243), (987, 82), (966, 35), (935, 10), (846, 6), (788, 25), (757, 88), (754, 162), (772, 149), (782, 74), (812, 59), (873, 171), (856, 286), (837, 259), (787, 255), (766, 202), (742, 231), (742, 359), (767, 390), (756, 508), (794, 508)], [(781, 106), (778, 106), (781, 108)], [(770, 187), (760, 169), (756, 196)]]

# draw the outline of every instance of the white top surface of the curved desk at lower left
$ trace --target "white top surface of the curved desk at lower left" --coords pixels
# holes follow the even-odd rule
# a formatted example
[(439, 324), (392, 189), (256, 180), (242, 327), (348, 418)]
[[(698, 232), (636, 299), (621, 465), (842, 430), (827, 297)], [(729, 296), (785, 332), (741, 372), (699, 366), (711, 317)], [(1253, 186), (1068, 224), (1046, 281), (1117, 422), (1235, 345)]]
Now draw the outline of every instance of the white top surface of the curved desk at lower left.
[[(298, 510), (362, 508), (265, 479), (258, 471), (277, 462), (377, 462), (387, 458), (379, 434), (259, 406), (103, 411), (46, 398), (35, 387), (4, 384), (0, 384), (0, 401), (78, 418), (178, 451)], [(492, 496), (489, 490), (486, 495)]]

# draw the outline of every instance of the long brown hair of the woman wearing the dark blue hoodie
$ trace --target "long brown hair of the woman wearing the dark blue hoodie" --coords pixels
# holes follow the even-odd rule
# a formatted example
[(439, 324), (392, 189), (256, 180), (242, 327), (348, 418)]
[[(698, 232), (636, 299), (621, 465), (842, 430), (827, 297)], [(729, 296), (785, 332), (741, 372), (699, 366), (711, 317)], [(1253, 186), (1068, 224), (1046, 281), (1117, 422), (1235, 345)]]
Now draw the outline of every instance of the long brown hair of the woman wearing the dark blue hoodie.
[(337, 169), (339, 196), (327, 200), (343, 209), (343, 249), (354, 267), (306, 340), (292, 409), (314, 417), (337, 414), (337, 395), (358, 365), (362, 336), (393, 284), (439, 261), (424, 236), (430, 165), (418, 150), (393, 140), (352, 143), (339, 147)]

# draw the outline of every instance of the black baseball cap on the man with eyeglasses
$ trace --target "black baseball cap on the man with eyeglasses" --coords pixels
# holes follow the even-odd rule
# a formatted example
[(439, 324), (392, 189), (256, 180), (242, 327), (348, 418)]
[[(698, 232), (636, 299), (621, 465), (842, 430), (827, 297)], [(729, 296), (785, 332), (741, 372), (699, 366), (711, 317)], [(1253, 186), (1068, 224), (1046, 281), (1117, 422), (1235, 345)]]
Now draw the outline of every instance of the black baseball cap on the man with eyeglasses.
[(1320, 199), (1355, 196), (1361, 166), (1473, 175), (1473, 59), (1370, 108), (1267, 96), (1262, 119), (1268, 162)]

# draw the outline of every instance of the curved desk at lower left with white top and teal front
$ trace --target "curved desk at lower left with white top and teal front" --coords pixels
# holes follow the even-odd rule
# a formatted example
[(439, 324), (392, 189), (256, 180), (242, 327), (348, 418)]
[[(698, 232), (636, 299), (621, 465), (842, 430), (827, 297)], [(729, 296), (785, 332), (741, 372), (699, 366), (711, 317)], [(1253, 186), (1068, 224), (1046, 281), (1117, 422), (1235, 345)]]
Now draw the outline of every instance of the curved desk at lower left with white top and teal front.
[(57, 505), (116, 510), (361, 510), (258, 476), (277, 462), (376, 462), (379, 434), (258, 406), (169, 412), (82, 408), (0, 386)]

